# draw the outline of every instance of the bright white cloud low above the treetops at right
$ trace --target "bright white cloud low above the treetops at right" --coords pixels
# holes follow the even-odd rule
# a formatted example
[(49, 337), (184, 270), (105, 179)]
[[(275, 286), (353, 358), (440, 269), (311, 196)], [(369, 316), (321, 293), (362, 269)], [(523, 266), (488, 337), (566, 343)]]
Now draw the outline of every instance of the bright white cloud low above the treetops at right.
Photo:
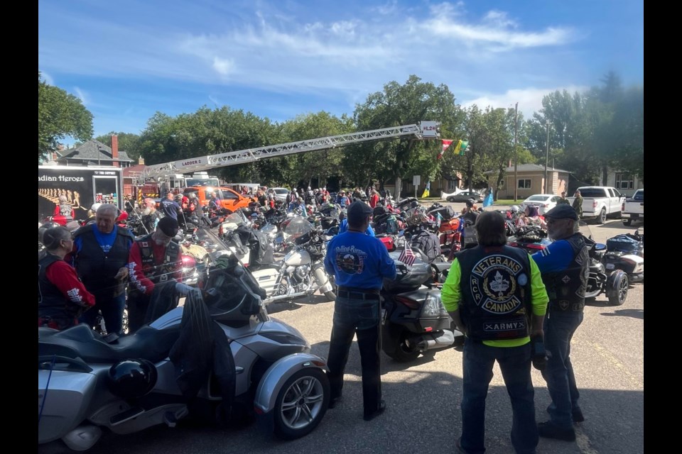
[(580, 87), (571, 85), (568, 87), (556, 87), (556, 88), (526, 88), (526, 89), (510, 89), (507, 92), (494, 94), (481, 94), (475, 99), (468, 99), (462, 102), (462, 107), (471, 107), (476, 104), (480, 109), (485, 109), (487, 106), (491, 106), (493, 109), (498, 109), (500, 107), (504, 109), (513, 109), (514, 104), (519, 103), (519, 112), (524, 114), (526, 120), (533, 118), (534, 112), (538, 112), (542, 109), (542, 99), (544, 96), (556, 92), (563, 92), (566, 90), (568, 93), (573, 94), (575, 92), (585, 92), (589, 87)]

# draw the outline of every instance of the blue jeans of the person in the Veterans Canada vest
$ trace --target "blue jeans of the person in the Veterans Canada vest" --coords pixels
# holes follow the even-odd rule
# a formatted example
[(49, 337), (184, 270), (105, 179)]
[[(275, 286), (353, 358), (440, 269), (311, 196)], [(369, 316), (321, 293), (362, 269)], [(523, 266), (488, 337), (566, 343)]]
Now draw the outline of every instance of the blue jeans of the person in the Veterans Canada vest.
[(465, 339), (460, 445), (469, 454), (485, 452), (485, 398), (495, 361), (502, 371), (511, 399), (511, 445), (516, 453), (535, 453), (538, 428), (535, 421), (535, 389), (531, 380), (530, 343), (503, 348)]

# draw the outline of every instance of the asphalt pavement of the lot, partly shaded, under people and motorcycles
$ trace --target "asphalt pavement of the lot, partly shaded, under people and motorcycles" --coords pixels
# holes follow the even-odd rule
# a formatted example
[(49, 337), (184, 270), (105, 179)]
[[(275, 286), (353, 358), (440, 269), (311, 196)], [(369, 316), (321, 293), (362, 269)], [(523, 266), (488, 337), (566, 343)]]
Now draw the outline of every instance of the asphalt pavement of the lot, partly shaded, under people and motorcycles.
[[(458, 205), (451, 204), (457, 209)], [(497, 209), (498, 207), (494, 207)], [(616, 233), (632, 232), (619, 220), (590, 226), (597, 242)], [(315, 295), (303, 301), (271, 304), (271, 316), (298, 328), (312, 353), (326, 357), (333, 302)], [(571, 360), (580, 389), (585, 422), (576, 425), (573, 443), (541, 438), (538, 453), (644, 453), (644, 284), (629, 289), (622, 306), (610, 306), (600, 295), (585, 307), (576, 331)], [(373, 421), (362, 419), (359, 353), (352, 345), (345, 375), (344, 400), (328, 410), (318, 428), (296, 441), (279, 441), (256, 425), (244, 428), (157, 426), (141, 433), (107, 433), (92, 448), (102, 454), (217, 453), (454, 453), (460, 434), (462, 352), (447, 348), (404, 364), (381, 354), (386, 412)], [(536, 419), (548, 419), (550, 403), (540, 372), (532, 370), (536, 388)], [(488, 454), (513, 453), (511, 405), (497, 365), (486, 403)], [(38, 447), (39, 454), (69, 452), (60, 442)]]

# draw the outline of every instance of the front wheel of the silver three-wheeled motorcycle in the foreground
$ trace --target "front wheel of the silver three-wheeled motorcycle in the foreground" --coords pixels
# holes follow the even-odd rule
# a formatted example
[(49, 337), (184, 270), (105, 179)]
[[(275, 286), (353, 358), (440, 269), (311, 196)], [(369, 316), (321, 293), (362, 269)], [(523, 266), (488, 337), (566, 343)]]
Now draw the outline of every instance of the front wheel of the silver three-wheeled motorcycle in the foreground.
[(284, 440), (308, 435), (325, 416), (329, 395), (329, 379), (318, 368), (306, 367), (289, 377), (273, 410), (275, 435)]

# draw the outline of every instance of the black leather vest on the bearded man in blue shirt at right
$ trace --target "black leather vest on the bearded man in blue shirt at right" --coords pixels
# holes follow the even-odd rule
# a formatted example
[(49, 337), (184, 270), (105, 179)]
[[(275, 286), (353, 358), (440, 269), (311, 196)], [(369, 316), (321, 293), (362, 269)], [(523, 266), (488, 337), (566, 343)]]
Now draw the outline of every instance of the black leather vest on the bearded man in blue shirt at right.
[(585, 307), (585, 290), (590, 277), (590, 247), (582, 233), (565, 238), (573, 249), (573, 260), (565, 270), (542, 273), (549, 297), (549, 310), (580, 313)]

